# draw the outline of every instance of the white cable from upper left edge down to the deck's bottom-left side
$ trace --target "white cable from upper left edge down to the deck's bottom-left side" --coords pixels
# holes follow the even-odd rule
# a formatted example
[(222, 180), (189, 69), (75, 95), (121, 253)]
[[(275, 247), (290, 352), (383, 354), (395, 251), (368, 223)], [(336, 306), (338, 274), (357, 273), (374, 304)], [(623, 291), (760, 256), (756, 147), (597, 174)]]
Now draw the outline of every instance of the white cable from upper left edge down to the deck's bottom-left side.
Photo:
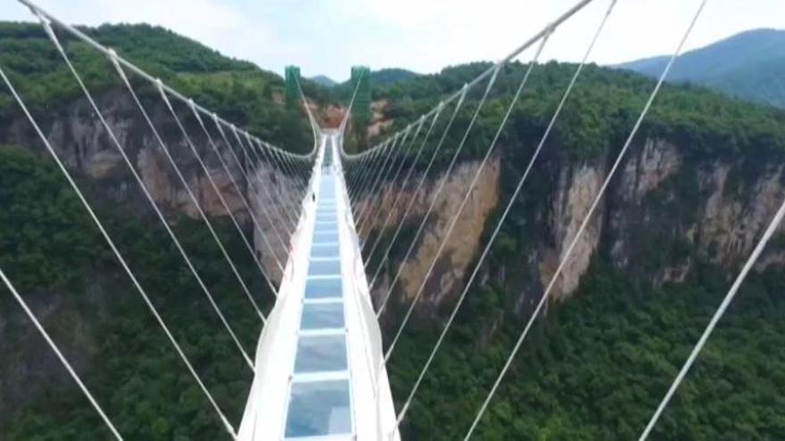
[[(33, 9), (33, 12), (36, 12), (36, 10)], [(109, 245), (110, 249), (112, 249), (112, 253), (118, 259), (118, 262), (120, 262), (120, 265), (123, 267), (123, 270), (126, 272), (126, 274), (128, 274), (128, 277), (130, 278), (131, 282), (133, 283), (134, 288), (139, 293), (139, 295), (142, 297), (142, 299), (145, 301), (145, 305), (150, 310), (151, 314), (153, 314), (153, 317), (155, 318), (156, 322), (158, 322), (158, 324), (161, 326), (161, 329), (166, 334), (167, 338), (169, 339), (169, 342), (172, 344), (172, 346), (175, 348), (175, 351), (178, 353), (178, 356), (180, 357), (180, 360), (182, 360), (182, 362), (186, 364), (186, 368), (187, 368), (188, 372), (191, 374), (192, 377), (194, 377), (194, 380), (199, 385), (199, 388), (202, 389), (202, 393), (204, 394), (204, 396), (207, 397), (207, 399), (210, 402), (210, 404), (212, 405), (213, 409), (219, 415), (219, 419), (221, 420), (221, 422), (223, 422), (224, 428), (227, 429), (227, 432), (233, 438), (236, 438), (236, 432), (235, 432), (234, 427), (232, 427), (232, 424), (228, 421), (226, 415), (224, 415), (224, 413), (221, 411), (218, 403), (216, 403), (216, 401), (212, 397), (210, 391), (207, 389), (206, 386), (204, 386), (204, 383), (202, 382), (202, 379), (199, 377), (199, 374), (196, 373), (196, 371), (194, 370), (194, 366), (191, 364), (191, 362), (188, 361), (188, 357), (186, 356), (186, 354), (183, 352), (182, 348), (178, 344), (177, 339), (175, 339), (174, 336), (172, 335), (171, 331), (169, 331), (169, 328), (167, 327), (166, 323), (164, 323), (163, 318), (161, 317), (161, 314), (158, 313), (158, 310), (153, 305), (153, 302), (147, 296), (147, 293), (146, 293), (145, 289), (142, 288), (142, 285), (136, 279), (136, 274), (134, 274), (131, 271), (131, 268), (130, 268), (130, 266), (128, 266), (128, 262), (126, 261), (125, 257), (123, 257), (122, 254), (120, 254), (120, 249), (117, 248), (117, 246), (115, 245), (114, 241), (112, 240), (112, 237), (109, 235), (109, 233), (103, 227), (103, 224), (98, 219), (98, 216), (95, 215), (95, 211), (93, 211), (93, 208), (90, 206), (90, 203), (87, 202), (87, 198), (85, 198), (85, 195), (81, 192), (81, 190), (79, 190), (79, 187), (76, 184), (76, 181), (73, 179), (73, 177), (70, 175), (70, 172), (68, 171), (68, 169), (65, 167), (65, 165), (62, 163), (60, 158), (57, 156), (57, 153), (54, 151), (54, 148), (52, 147), (52, 144), (49, 143), (48, 138), (46, 137), (44, 132), (41, 130), (41, 127), (38, 126), (38, 123), (37, 123), (36, 119), (33, 118), (32, 114), (30, 113), (30, 111), (29, 111), (29, 109), (27, 107), (27, 105), (22, 101), (20, 94), (17, 93), (16, 88), (11, 83), (11, 80), (6, 76), (5, 71), (4, 71), (4, 69), (2, 67), (0, 67), (0, 78), (3, 78), (5, 86), (7, 86), (8, 89), (11, 91), (11, 94), (12, 94), (14, 100), (21, 107), (21, 110), (22, 110), (22, 112), (24, 112), (25, 117), (28, 118), (30, 124), (33, 126), (33, 129), (36, 131), (36, 133), (38, 135), (38, 138), (41, 140), (42, 143), (44, 143), (44, 145), (46, 147), (46, 151), (48, 151), (49, 154), (52, 156), (52, 159), (54, 159), (54, 162), (57, 164), (57, 167), (60, 168), (60, 171), (62, 172), (63, 176), (65, 176), (66, 180), (70, 184), (70, 187), (73, 189), (74, 192), (77, 193), (77, 197), (78, 197), (79, 201), (82, 203), (82, 206), (87, 210), (87, 214), (90, 216), (90, 218), (93, 220), (93, 223), (95, 224), (95, 226), (101, 232), (101, 235), (103, 236), (104, 241), (106, 241), (106, 243)]]

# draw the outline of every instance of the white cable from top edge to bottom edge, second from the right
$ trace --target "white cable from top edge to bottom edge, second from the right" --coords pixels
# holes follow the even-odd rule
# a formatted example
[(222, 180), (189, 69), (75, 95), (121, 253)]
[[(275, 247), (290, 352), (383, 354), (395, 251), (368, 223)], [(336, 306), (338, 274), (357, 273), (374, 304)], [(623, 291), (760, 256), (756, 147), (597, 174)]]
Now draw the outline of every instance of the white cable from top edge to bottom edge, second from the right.
[(624, 142), (624, 146), (622, 147), (622, 150), (619, 151), (616, 157), (616, 161), (613, 164), (613, 167), (611, 167), (610, 171), (608, 172), (607, 177), (603, 182), (602, 186), (600, 187), (596, 198), (592, 202), (588, 213), (586, 214), (586, 216), (583, 217), (583, 222), (581, 226), (579, 227), (577, 233), (575, 233), (573, 241), (567, 247), (566, 253), (564, 257), (562, 257), (561, 261), (559, 262), (556, 272), (551, 276), (548, 287), (542, 293), (540, 301), (537, 304), (537, 306), (534, 308), (532, 316), (529, 318), (528, 323), (526, 323), (524, 331), (521, 332), (521, 335), (518, 337), (515, 347), (513, 347), (512, 352), (507, 358), (507, 361), (504, 363), (504, 366), (499, 372), (499, 376), (497, 377), (496, 381), (493, 383), (493, 386), (489, 391), (488, 396), (486, 396), (483, 405), (480, 407), (480, 410), (477, 412), (475, 416), (475, 420), (472, 422), (471, 427), (468, 429), (466, 437), (464, 437), (464, 441), (466, 441), (474, 433), (477, 424), (483, 418), (484, 412), (488, 409), (488, 405), (491, 403), (491, 400), (495, 395), (496, 390), (499, 388), (501, 380), (508, 372), (510, 365), (515, 359), (515, 356), (517, 355), (521, 346), (523, 345), (524, 340), (529, 333), (529, 330), (531, 330), (534, 320), (536, 320), (537, 316), (540, 315), (542, 307), (545, 305), (545, 302), (549, 298), (550, 290), (553, 289), (554, 285), (556, 284), (556, 281), (558, 280), (558, 277), (561, 275), (561, 272), (564, 270), (564, 267), (567, 261), (569, 260), (569, 257), (572, 256), (572, 252), (575, 248), (575, 245), (578, 243), (578, 240), (580, 240), (581, 236), (583, 235), (583, 232), (586, 230), (586, 227), (589, 225), (589, 222), (591, 221), (591, 216), (594, 214), (594, 211), (599, 206), (599, 201), (602, 200), (602, 196), (607, 190), (607, 187), (610, 184), (611, 179), (616, 175), (616, 170), (621, 164), (622, 159), (624, 159), (625, 153), (629, 150), (630, 145), (632, 144), (632, 139), (635, 137), (635, 135), (637, 135), (638, 130), (640, 129), (641, 124), (643, 123), (643, 119), (646, 118), (646, 115), (649, 113), (649, 109), (651, 108), (652, 103), (654, 102), (655, 98), (657, 98), (657, 94), (662, 88), (662, 85), (665, 82), (665, 78), (667, 77), (668, 72), (670, 72), (671, 68), (673, 67), (673, 62), (676, 61), (679, 54), (682, 52), (684, 43), (686, 43), (687, 38), (690, 37), (690, 33), (692, 32), (692, 29), (695, 27), (695, 23), (698, 21), (698, 17), (700, 17), (701, 12), (703, 12), (704, 6), (706, 6), (706, 1), (707, 0), (701, 0), (700, 5), (698, 6), (698, 11), (695, 13), (695, 15), (692, 17), (692, 20), (690, 21), (690, 26), (682, 35), (682, 39), (679, 41), (679, 44), (676, 46), (673, 55), (669, 58), (667, 65), (665, 65), (665, 69), (660, 74), (659, 79), (657, 80), (657, 85), (654, 87), (654, 90), (652, 90), (651, 94), (649, 95), (649, 100), (646, 102), (646, 105), (643, 107), (643, 110), (640, 111), (640, 116), (635, 122), (635, 125), (632, 127), (632, 131), (630, 132), (630, 135), (627, 137), (626, 141)]

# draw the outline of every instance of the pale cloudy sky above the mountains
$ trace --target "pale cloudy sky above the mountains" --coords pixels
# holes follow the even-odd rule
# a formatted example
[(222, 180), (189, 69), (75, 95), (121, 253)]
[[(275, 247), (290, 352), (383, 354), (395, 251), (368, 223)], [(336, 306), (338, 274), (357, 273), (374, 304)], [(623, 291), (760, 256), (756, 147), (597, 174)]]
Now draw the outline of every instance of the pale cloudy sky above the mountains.
[[(34, 0), (35, 1), (35, 0)], [(281, 73), (349, 76), (352, 65), (434, 72), (496, 60), (577, 0), (37, 0), (75, 24), (145, 21)], [(618, 0), (593, 61), (616, 63), (673, 50), (699, 0)], [(595, 0), (558, 29), (543, 60), (574, 61), (610, 0)], [(30, 20), (13, 0), (0, 19)], [(785, 0), (709, 0), (688, 48), (745, 29), (785, 29)], [(526, 58), (526, 55), (522, 57)]]

